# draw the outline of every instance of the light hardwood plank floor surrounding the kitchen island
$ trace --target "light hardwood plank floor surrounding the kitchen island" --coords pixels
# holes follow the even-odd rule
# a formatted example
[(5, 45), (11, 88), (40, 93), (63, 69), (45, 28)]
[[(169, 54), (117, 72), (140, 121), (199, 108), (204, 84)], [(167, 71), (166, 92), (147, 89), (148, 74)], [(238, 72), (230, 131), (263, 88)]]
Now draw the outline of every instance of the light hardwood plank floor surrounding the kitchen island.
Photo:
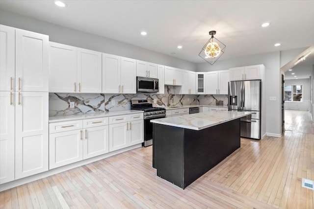
[(241, 139), (241, 148), (182, 190), (158, 177), (152, 146), (134, 149), (0, 192), (0, 208), (313, 209), (314, 125), (286, 111), (281, 138)]

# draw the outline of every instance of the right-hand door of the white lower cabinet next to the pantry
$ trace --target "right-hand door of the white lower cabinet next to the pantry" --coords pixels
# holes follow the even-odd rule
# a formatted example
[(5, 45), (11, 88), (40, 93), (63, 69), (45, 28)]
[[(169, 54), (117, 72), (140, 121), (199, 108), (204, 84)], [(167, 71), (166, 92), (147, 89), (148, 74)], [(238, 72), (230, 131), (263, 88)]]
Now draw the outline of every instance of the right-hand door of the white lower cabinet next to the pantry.
[(98, 126), (83, 130), (83, 159), (109, 152), (109, 126)]

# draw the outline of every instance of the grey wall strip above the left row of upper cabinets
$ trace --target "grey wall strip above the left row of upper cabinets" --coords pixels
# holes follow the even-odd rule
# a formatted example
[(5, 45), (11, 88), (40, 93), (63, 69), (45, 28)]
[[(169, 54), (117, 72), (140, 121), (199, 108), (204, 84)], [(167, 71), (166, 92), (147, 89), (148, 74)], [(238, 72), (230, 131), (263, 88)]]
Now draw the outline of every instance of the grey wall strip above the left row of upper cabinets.
[(161, 54), (152, 50), (60, 25), (27, 18), (3, 10), (0, 10), (0, 24), (49, 35), (49, 40), (52, 42), (87, 48), (184, 70), (196, 70), (195, 63), (178, 59), (170, 55)]

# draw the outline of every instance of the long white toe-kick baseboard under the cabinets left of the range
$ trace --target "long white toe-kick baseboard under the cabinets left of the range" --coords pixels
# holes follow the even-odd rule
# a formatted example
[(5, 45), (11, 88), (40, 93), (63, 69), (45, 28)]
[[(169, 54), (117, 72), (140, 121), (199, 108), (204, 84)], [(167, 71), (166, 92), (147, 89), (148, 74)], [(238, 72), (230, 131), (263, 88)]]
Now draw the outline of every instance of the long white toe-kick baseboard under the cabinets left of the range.
[(96, 156), (94, 158), (89, 158), (89, 159), (86, 159), (86, 160), (83, 160), (83, 161), (79, 161), (79, 162), (76, 162), (76, 163), (71, 163), (71, 164), (68, 164), (68, 165), (57, 167), (57, 168), (54, 168), (52, 170), (45, 171), (43, 173), (38, 173), (36, 175), (25, 177), (23, 179), (14, 180), (12, 182), (8, 182), (8, 183), (0, 185), (0, 191), (4, 191), (4, 190), (7, 190), (7, 189), (16, 187), (16, 186), (21, 186), (21, 185), (27, 184), (29, 182), (33, 182), (33, 181), (36, 181), (36, 180), (39, 180), (39, 179), (42, 179), (42, 178), (46, 178), (48, 176), (52, 176), (54, 174), (61, 173), (63, 171), (70, 170), (70, 169), (73, 169), (73, 168), (76, 168), (76, 167), (79, 167), (79, 166), (82, 166), (82, 165), (85, 165), (85, 164), (88, 164), (88, 163), (93, 163), (95, 161), (99, 161), (99, 160), (102, 160), (102, 159), (111, 157), (113, 155), (117, 155), (117, 154), (129, 151), (131, 149), (135, 149), (135, 148), (138, 148), (138, 147), (141, 147), (141, 146), (142, 146), (142, 143), (136, 144), (136, 145), (124, 148), (124, 149), (120, 149), (120, 150), (116, 150), (116, 151), (113, 151), (113, 152), (109, 152), (109, 153), (104, 154), (104, 155)]

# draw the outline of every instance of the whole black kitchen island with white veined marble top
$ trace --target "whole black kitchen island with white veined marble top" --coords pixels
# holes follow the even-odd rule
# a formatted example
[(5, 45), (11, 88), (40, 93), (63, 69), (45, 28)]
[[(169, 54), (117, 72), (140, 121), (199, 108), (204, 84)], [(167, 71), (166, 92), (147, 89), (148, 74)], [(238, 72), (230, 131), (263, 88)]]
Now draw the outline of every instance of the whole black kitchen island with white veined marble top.
[(250, 114), (210, 111), (151, 120), (157, 176), (184, 189), (240, 147), (240, 118)]

